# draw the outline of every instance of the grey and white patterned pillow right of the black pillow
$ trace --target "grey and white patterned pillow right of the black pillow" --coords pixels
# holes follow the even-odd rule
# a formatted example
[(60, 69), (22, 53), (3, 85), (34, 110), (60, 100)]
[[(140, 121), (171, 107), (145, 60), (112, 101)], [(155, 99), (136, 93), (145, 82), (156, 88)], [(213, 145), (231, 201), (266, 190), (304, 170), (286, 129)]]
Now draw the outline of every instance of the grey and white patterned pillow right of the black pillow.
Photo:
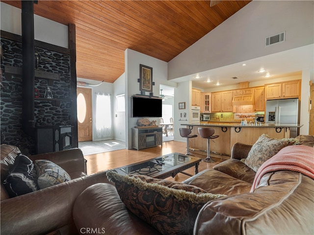
[(71, 180), (70, 175), (64, 169), (49, 160), (35, 160), (35, 167), (40, 189)]

